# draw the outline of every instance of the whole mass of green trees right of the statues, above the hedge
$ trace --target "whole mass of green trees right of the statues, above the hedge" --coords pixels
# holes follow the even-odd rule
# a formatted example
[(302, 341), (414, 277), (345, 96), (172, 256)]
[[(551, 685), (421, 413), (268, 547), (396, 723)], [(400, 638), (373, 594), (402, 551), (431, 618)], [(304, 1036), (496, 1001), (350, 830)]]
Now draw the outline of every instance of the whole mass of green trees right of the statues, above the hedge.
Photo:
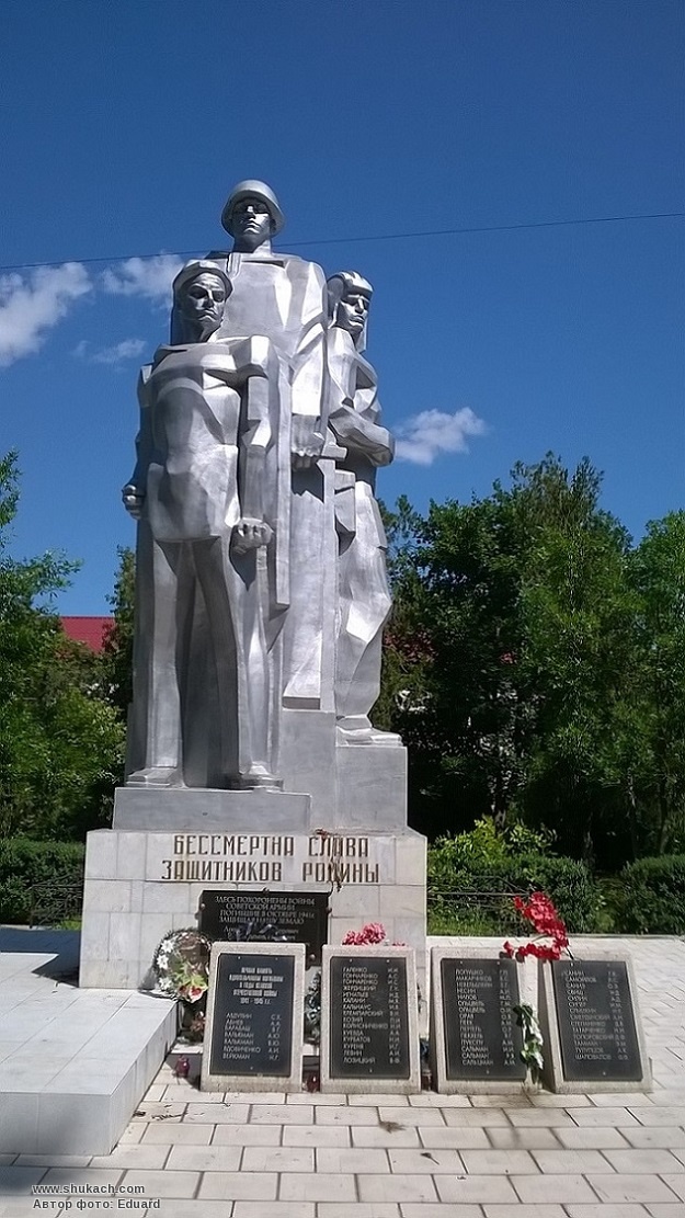
[(382, 705), (431, 836), (489, 815), (607, 867), (680, 848), (685, 514), (634, 549), (600, 492), (588, 460), (548, 454), (485, 498), (389, 516)]

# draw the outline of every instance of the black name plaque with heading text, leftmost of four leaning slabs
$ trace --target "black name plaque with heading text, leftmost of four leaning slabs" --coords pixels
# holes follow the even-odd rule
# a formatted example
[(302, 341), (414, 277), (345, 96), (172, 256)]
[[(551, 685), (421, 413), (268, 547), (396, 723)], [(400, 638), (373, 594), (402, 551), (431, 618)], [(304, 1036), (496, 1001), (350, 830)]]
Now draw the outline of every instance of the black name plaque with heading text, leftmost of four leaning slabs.
[(226, 952), (217, 962), (210, 1074), (275, 1074), (292, 1066), (292, 955)]

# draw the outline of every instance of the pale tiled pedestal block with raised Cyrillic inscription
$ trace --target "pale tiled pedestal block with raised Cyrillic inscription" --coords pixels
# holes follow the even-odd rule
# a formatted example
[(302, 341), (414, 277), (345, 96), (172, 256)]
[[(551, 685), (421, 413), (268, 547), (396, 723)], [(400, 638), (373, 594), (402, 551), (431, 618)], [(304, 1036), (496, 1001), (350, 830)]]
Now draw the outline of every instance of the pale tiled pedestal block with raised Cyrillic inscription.
[(131, 789), (131, 799), (157, 801), (150, 804), (156, 818), (168, 801), (165, 832), (144, 832), (120, 827), (129, 792), (117, 795), (123, 795), (117, 827), (88, 834), (82, 987), (152, 988), (155, 949), (169, 931), (197, 926), (207, 889), (324, 892), (327, 942), (339, 944), (348, 931), (381, 922), (391, 943), (416, 950), (419, 985), (426, 995), (426, 839), (419, 833), (361, 826), (285, 832), (280, 817), (264, 812), (253, 815), (249, 827), (236, 828), (228, 816), (220, 828), (201, 817), (191, 828), (184, 818), (174, 820), (176, 797), (219, 795), (242, 809), (266, 793)]

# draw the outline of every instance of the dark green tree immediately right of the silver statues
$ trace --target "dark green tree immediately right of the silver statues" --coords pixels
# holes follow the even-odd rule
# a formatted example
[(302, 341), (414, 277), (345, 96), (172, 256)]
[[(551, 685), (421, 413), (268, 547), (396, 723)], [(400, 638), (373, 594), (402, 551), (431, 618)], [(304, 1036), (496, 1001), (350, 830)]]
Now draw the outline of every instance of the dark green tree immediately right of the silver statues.
[(388, 641), (412, 681), (395, 693), (392, 726), (410, 747), (412, 822), (429, 834), (501, 821), (516, 781), (517, 590), (498, 516), (494, 501), (433, 503), (394, 563)]

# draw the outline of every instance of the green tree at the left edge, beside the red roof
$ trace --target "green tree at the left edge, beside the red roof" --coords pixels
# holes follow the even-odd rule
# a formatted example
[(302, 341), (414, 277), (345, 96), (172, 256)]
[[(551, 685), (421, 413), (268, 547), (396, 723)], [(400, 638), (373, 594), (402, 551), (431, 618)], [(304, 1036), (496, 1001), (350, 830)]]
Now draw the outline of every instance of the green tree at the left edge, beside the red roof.
[(7, 553), (17, 479), (10, 453), (0, 462), (0, 837), (82, 837), (107, 823), (123, 728), (97, 658), (64, 636), (54, 609), (78, 564)]

